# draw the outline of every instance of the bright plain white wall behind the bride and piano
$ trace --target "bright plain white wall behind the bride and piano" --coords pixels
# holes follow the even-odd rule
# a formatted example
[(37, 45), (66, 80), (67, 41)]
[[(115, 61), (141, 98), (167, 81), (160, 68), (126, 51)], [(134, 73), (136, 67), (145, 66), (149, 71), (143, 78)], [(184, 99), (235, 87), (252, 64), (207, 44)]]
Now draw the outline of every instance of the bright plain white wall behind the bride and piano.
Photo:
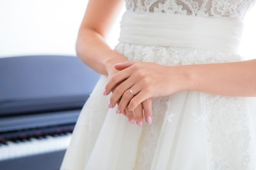
[[(33, 54), (76, 55), (77, 31), (88, 0), (0, 0), (0, 57)], [(118, 43), (116, 20), (108, 39)], [(256, 58), (256, 5), (244, 18), (244, 34), (239, 53)]]

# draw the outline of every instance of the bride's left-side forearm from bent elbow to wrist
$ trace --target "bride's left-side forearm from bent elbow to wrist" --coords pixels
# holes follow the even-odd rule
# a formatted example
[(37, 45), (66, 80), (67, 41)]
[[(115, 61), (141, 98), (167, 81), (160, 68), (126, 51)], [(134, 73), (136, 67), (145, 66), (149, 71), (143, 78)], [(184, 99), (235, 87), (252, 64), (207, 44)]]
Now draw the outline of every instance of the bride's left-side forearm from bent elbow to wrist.
[(105, 39), (92, 29), (80, 29), (76, 42), (77, 57), (84, 64), (100, 74), (108, 75), (112, 65), (127, 60), (123, 55), (112, 50)]

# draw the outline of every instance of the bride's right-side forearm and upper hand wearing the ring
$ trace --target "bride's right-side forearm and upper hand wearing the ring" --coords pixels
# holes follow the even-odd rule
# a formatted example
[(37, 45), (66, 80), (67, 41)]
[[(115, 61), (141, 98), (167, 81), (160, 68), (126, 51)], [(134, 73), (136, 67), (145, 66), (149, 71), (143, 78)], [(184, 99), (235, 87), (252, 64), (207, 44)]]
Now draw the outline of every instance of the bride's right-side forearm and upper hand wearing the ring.
[[(256, 59), (218, 64), (162, 66), (154, 62), (123, 62), (129, 66), (114, 74), (106, 85), (107, 95), (116, 83), (110, 98), (120, 110), (134, 110), (148, 97), (170, 96), (181, 90), (195, 90), (222, 96), (256, 97)], [(161, 76), (159, 76), (161, 75)], [(125, 81), (124, 81), (125, 80)], [(129, 94), (129, 87), (136, 96)], [(118, 90), (117, 90), (118, 89)]]

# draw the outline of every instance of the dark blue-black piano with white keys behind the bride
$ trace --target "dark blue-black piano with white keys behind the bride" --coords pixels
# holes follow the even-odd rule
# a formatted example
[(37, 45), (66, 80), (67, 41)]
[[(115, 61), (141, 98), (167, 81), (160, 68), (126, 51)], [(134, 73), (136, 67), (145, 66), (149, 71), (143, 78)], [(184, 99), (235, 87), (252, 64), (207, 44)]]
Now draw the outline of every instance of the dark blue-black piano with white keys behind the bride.
[(0, 59), (0, 169), (60, 169), (99, 77), (75, 56)]

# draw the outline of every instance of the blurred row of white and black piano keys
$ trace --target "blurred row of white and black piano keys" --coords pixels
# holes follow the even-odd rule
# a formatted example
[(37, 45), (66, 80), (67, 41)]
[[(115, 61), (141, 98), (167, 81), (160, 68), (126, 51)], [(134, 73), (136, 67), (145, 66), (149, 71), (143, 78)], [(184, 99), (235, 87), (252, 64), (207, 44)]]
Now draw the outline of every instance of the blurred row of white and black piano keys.
[(0, 143), (0, 161), (17, 157), (26, 157), (40, 153), (65, 150), (70, 142), (72, 133), (40, 136), (17, 141), (6, 141)]

